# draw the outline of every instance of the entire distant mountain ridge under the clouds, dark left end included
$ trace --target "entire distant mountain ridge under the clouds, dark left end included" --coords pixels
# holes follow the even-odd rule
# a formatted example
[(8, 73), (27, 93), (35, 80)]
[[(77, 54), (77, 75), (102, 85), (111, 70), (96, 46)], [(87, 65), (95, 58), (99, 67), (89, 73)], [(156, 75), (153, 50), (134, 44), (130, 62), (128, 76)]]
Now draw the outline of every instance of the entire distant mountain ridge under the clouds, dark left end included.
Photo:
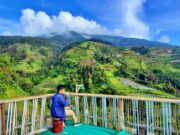
[(61, 34), (50, 33), (38, 37), (0, 36), (0, 45), (14, 44), (18, 42), (31, 43), (31, 39), (33, 39), (33, 41), (37, 42), (38, 44), (53, 44), (55, 46), (61, 46), (61, 47), (86, 40), (106, 42), (115, 46), (149, 46), (149, 47), (174, 46), (167, 43), (149, 41), (145, 39), (125, 38), (120, 36), (108, 36), (108, 35), (88, 35), (83, 33), (77, 33), (74, 31), (68, 31)]

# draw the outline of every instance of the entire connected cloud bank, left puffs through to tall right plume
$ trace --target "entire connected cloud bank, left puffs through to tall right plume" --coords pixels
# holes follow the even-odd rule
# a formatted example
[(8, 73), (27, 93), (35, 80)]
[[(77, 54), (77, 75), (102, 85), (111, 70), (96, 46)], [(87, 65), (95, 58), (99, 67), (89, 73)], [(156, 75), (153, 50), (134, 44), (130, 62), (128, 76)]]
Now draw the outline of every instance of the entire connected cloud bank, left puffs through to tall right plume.
[(20, 21), (16, 23), (17, 28), (12, 27), (8, 29), (7, 27), (7, 29), (0, 32), (12, 35), (37, 36), (51, 32), (76, 31), (87, 34), (151, 39), (149, 26), (140, 19), (145, 0), (119, 0), (119, 2), (117, 10), (121, 12), (119, 17), (121, 23), (114, 29), (108, 29), (96, 21), (88, 20), (82, 16), (73, 16), (66, 11), (61, 11), (58, 15), (49, 16), (44, 11), (35, 12), (33, 9), (24, 9), (22, 10)]

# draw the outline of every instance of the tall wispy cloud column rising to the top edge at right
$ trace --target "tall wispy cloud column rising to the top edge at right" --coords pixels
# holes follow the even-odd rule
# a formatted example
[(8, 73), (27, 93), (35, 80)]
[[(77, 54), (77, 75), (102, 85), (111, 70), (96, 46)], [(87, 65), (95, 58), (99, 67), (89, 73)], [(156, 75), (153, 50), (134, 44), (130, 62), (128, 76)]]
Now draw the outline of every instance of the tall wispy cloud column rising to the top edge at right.
[(140, 19), (146, 0), (120, 0), (122, 31), (128, 37), (150, 39), (149, 26)]

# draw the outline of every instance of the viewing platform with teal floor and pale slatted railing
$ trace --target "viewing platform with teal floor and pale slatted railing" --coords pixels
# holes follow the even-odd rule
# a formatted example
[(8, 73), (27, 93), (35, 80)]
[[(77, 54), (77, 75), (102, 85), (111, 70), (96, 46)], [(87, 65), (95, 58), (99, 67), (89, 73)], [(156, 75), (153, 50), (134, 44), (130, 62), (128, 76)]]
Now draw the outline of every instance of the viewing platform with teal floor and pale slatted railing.
[[(0, 135), (53, 135), (49, 95), (0, 101)], [(179, 135), (180, 100), (70, 93), (82, 124), (59, 135)], [(121, 131), (121, 132), (120, 132)]]

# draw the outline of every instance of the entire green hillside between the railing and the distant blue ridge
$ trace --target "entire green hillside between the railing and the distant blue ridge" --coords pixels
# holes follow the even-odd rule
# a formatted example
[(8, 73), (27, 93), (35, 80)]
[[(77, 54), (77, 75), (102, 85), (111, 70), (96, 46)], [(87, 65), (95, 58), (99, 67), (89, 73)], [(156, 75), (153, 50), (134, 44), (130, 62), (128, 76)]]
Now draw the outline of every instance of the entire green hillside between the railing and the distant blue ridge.
[(89, 93), (180, 97), (178, 47), (115, 47), (85, 41), (68, 43), (62, 50), (56, 49), (54, 39), (37, 39), (43, 43), (35, 38), (11, 44), (7, 40), (0, 46), (0, 98), (52, 93), (60, 83), (69, 91), (84, 84)]

